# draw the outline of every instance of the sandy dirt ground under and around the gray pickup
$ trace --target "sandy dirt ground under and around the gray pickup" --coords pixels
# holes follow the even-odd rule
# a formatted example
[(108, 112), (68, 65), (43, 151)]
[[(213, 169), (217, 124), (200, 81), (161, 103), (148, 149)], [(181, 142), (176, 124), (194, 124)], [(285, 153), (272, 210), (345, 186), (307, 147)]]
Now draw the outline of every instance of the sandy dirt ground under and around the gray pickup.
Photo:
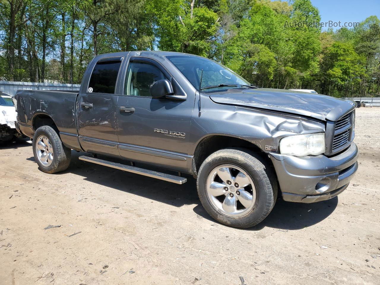
[(2, 146), (0, 284), (380, 284), (379, 123), (380, 108), (356, 109), (359, 170), (339, 197), (279, 200), (248, 230), (212, 220), (191, 177), (171, 184), (74, 151), (67, 171), (45, 174), (27, 139)]

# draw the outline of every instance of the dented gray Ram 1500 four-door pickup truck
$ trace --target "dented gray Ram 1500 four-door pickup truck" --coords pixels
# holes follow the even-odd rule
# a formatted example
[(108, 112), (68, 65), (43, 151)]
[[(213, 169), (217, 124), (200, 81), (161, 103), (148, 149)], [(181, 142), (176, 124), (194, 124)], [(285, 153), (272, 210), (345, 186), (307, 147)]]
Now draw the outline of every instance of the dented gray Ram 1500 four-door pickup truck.
[(33, 138), (42, 171), (67, 169), (73, 149), (92, 154), (81, 160), (177, 184), (191, 174), (206, 211), (239, 228), (260, 223), (277, 195), (337, 196), (358, 168), (353, 101), (258, 88), (195, 55), (98, 55), (79, 92), (19, 90), (16, 99), (17, 128)]

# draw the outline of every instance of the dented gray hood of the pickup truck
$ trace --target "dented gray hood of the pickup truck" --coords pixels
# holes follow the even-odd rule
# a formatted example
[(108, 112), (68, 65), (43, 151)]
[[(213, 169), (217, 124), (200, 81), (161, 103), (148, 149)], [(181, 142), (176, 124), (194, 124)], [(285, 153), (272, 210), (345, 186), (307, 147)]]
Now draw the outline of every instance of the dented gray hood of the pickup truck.
[(351, 100), (282, 89), (228, 89), (209, 93), (209, 96), (215, 103), (287, 112), (318, 120), (335, 121), (355, 109)]

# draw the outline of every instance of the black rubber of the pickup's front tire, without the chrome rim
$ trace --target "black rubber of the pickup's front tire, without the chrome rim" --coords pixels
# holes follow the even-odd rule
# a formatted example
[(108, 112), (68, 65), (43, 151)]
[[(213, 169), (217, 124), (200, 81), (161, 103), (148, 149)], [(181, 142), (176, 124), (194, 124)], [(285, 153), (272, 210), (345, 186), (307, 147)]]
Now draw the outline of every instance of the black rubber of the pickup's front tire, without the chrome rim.
[[(226, 225), (245, 227), (244, 225), (252, 225), (263, 215), (263, 212), (266, 209), (268, 204), (268, 199), (273, 195), (268, 193), (273, 191), (271, 188), (268, 189), (268, 185), (265, 184), (263, 175), (260, 173), (260, 169), (255, 167), (252, 162), (247, 161), (244, 157), (240, 155), (232, 154), (221, 154), (223, 157), (214, 156), (210, 160), (206, 159), (201, 166), (201, 172), (198, 175), (198, 194), (199, 199), (201, 200), (206, 211), (213, 217), (215, 220), (218, 220)], [(239, 166), (243, 169), (252, 179), (256, 191), (256, 201), (253, 208), (247, 212), (245, 215), (240, 217), (229, 217), (223, 214), (220, 210), (216, 209), (207, 194), (207, 178), (211, 171), (217, 166), (230, 164)], [(261, 166), (262, 167), (262, 166)], [(272, 206), (274, 201), (272, 202)]]

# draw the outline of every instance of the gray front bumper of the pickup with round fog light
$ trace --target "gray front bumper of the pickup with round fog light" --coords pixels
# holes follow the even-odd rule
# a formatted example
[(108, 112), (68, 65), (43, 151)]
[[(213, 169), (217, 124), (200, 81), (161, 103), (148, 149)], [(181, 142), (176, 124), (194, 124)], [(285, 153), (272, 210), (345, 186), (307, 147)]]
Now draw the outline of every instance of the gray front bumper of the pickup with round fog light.
[(269, 155), (285, 201), (313, 203), (334, 198), (358, 170), (358, 147), (353, 142), (334, 157)]

